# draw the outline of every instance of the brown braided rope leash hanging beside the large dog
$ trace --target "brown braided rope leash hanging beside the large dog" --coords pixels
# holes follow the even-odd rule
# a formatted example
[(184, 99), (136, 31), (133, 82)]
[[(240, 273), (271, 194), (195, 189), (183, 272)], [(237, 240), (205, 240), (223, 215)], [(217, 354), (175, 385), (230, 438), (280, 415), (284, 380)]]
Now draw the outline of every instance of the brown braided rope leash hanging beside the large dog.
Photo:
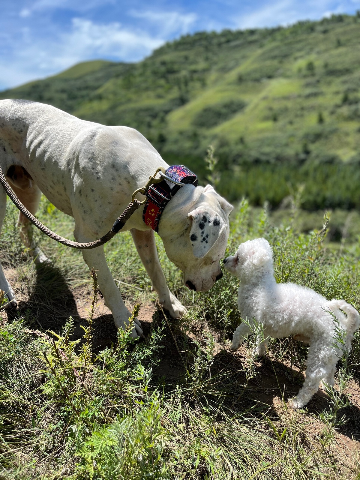
[(65, 239), (64, 237), (60, 237), (53, 231), (51, 231), (48, 227), (42, 224), (34, 215), (32, 215), (29, 210), (20, 202), (17, 198), (15, 193), (13, 192), (12, 188), (10, 187), (9, 183), (6, 181), (5, 175), (0, 167), (0, 183), (4, 187), (5, 192), (8, 194), (9, 198), (12, 200), (12, 203), (20, 210), (20, 212), (32, 222), (36, 228), (41, 230), (45, 235), (48, 235), (53, 240), (66, 245), (67, 247), (71, 248), (78, 248), (80, 250), (89, 250), (91, 248), (100, 247), (100, 245), (104, 245), (104, 243), (111, 240), (121, 228), (125, 225), (125, 223), (129, 220), (132, 214), (141, 206), (141, 202), (139, 200), (134, 199), (133, 202), (125, 208), (122, 214), (119, 216), (117, 220), (115, 220), (114, 225), (112, 226), (111, 230), (108, 231), (103, 237), (99, 240), (91, 241), (88, 243), (79, 243), (76, 241)]

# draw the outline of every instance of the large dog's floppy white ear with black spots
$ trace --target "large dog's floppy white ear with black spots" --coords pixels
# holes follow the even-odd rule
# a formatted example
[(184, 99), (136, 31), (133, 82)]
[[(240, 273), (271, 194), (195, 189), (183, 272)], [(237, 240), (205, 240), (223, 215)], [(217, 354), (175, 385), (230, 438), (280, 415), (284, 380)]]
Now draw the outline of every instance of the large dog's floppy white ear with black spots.
[(197, 208), (190, 212), (187, 221), (191, 225), (190, 243), (195, 257), (203, 258), (218, 240), (227, 224), (214, 211)]

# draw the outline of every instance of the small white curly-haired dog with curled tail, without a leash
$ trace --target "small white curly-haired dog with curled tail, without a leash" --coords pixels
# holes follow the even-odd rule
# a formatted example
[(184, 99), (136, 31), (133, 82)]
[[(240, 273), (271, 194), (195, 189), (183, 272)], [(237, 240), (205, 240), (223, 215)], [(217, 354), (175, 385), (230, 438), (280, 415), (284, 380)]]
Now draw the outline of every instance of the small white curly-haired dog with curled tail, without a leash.
[[(310, 288), (293, 283), (277, 284), (273, 251), (263, 238), (241, 243), (234, 256), (224, 259), (224, 267), (240, 279), (238, 306), (241, 316), (250, 321), (255, 318), (264, 324), (265, 340), (261, 343), (259, 339), (258, 355), (264, 354), (270, 336), (295, 335), (295, 339), (310, 344), (306, 380), (298, 396), (291, 400), (292, 408), (303, 407), (317, 392), (322, 380), (334, 384), (339, 350), (332, 345), (334, 322), (329, 311), (346, 331), (348, 350), (359, 328), (359, 313), (344, 300), (329, 301)], [(239, 348), (249, 331), (244, 323), (238, 326), (232, 340), (233, 350)]]

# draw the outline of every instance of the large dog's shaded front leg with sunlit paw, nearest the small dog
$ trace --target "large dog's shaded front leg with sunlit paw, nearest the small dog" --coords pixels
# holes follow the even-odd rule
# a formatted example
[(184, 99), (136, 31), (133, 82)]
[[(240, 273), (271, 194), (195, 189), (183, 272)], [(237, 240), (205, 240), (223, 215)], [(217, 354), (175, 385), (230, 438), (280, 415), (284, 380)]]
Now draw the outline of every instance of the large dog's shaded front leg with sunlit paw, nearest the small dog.
[(146, 272), (152, 281), (153, 288), (159, 296), (159, 303), (167, 310), (172, 318), (179, 318), (186, 313), (180, 301), (170, 292), (157, 256), (155, 235), (153, 230), (131, 230), (136, 250), (144, 264)]

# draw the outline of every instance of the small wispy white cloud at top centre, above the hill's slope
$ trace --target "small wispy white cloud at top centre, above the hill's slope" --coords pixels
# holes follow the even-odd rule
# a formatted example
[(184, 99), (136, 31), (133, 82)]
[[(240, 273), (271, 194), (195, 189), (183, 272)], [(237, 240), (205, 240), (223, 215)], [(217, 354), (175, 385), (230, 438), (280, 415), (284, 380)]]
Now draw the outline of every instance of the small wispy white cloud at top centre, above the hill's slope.
[(190, 26), (197, 20), (195, 13), (179, 13), (179, 12), (140, 12), (130, 11), (135, 18), (143, 18), (157, 24), (160, 28), (161, 36), (171, 34), (185, 34), (189, 31)]

